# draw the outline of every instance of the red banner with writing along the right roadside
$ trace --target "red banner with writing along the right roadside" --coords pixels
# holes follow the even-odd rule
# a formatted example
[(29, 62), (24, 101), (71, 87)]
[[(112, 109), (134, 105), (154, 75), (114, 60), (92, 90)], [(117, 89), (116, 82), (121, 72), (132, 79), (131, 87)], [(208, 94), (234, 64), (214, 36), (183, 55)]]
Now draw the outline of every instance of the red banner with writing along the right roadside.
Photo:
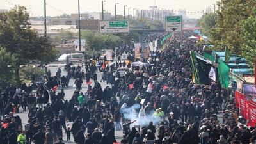
[(247, 99), (243, 93), (235, 93), (236, 107), (239, 108), (240, 115), (248, 120), (247, 125), (254, 127), (256, 124), (256, 103)]

